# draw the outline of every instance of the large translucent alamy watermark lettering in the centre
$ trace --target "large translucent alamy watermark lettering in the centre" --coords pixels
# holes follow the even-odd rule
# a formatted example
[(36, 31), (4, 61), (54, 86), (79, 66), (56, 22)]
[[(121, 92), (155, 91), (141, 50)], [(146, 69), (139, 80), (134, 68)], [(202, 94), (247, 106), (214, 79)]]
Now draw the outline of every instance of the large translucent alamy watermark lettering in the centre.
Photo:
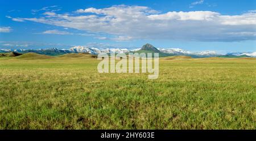
[(102, 60), (97, 67), (99, 73), (152, 73), (148, 79), (157, 79), (159, 75), (159, 53), (100, 53), (98, 60)]

